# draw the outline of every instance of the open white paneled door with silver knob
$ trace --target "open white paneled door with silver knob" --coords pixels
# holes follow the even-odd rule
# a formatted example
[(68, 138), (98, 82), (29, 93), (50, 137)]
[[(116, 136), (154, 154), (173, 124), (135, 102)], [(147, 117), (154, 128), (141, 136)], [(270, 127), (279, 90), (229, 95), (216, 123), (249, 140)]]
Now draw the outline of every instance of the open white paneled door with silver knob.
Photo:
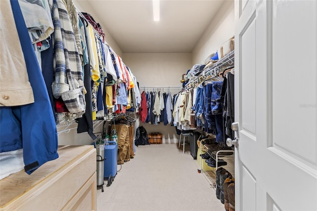
[(242, 5), (235, 1), (236, 210), (317, 210), (317, 1)]

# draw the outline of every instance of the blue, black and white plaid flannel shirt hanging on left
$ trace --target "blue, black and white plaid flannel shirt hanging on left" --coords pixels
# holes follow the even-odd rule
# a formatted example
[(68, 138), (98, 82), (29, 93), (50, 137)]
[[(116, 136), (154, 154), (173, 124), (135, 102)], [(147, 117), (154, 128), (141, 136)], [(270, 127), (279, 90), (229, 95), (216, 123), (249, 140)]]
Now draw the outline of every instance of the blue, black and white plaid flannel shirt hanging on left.
[(56, 99), (61, 97), (69, 112), (81, 117), (85, 112), (86, 102), (83, 94), (83, 72), (72, 23), (64, 1), (50, 0), (50, 6), (55, 29), (53, 96)]

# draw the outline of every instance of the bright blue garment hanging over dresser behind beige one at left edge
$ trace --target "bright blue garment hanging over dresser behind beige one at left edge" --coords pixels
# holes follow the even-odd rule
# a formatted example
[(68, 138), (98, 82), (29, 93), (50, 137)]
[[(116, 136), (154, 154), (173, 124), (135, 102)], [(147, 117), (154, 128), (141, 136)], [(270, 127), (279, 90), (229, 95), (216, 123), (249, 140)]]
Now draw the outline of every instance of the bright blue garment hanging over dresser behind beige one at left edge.
[(31, 174), (45, 162), (58, 158), (57, 130), (48, 91), (19, 3), (17, 0), (10, 2), (35, 102), (0, 107), (0, 152), (23, 148), (24, 170)]

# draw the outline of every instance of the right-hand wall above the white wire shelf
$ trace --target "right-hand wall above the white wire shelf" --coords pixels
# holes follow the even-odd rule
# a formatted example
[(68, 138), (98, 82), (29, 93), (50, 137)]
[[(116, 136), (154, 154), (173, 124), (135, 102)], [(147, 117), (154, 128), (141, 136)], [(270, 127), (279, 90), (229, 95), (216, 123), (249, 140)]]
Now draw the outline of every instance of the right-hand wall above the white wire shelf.
[(193, 64), (204, 64), (211, 53), (234, 36), (234, 1), (225, 0), (194, 48)]

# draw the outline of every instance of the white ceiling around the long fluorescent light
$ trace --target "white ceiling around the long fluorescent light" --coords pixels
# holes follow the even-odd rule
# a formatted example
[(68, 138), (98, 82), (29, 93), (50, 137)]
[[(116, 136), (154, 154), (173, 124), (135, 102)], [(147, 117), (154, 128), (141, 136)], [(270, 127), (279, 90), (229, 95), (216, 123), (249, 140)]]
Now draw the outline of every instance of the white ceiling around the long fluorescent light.
[(224, 0), (77, 0), (106, 28), (122, 53), (191, 53)]

